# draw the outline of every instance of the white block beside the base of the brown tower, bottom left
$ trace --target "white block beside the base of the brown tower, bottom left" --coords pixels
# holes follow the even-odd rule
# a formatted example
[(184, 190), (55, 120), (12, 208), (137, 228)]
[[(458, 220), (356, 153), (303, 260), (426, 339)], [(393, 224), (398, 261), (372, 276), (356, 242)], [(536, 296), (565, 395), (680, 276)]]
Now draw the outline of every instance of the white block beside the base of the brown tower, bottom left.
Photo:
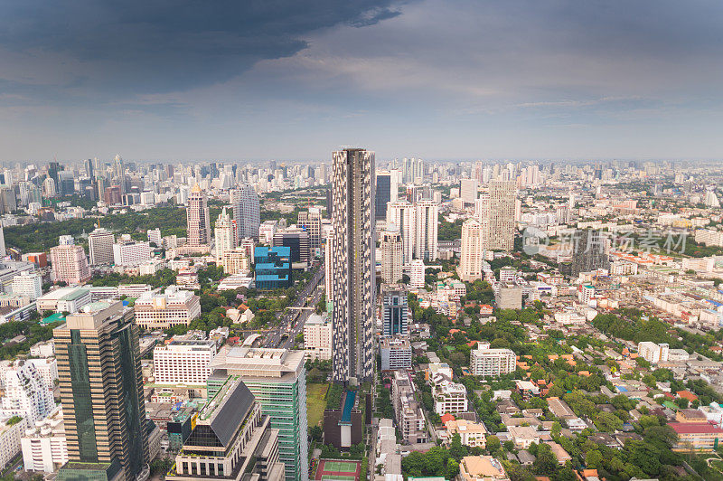
[(68, 442), (61, 406), (57, 406), (46, 419), (25, 429), (20, 445), (26, 471), (54, 473), (67, 463)]

